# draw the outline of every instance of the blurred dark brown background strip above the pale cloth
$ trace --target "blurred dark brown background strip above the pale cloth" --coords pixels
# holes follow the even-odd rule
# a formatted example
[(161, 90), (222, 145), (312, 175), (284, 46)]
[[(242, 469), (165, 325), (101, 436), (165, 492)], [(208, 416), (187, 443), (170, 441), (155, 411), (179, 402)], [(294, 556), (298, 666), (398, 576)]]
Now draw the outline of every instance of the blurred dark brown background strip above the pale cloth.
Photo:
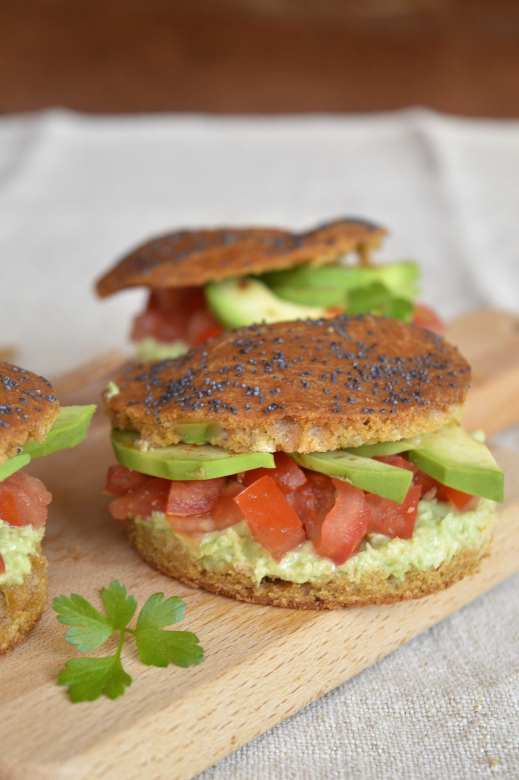
[(519, 115), (517, 0), (0, 0), (0, 111)]

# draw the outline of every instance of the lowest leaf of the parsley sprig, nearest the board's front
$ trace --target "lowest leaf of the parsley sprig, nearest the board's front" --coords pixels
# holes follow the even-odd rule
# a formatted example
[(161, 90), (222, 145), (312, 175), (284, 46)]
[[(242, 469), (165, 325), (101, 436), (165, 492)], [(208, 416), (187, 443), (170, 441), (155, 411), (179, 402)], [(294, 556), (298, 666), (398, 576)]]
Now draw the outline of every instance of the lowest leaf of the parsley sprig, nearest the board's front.
[(131, 682), (119, 654), (105, 658), (71, 658), (58, 678), (59, 685), (69, 686), (68, 693), (73, 702), (94, 701), (101, 693), (116, 699)]

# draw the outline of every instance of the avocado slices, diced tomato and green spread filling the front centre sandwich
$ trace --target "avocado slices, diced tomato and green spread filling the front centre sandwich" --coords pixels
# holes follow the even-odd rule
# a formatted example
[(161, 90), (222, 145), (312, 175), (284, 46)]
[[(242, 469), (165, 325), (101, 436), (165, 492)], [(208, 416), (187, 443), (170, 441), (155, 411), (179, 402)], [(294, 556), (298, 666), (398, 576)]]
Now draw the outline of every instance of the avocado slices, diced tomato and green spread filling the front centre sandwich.
[[(165, 547), (175, 539), (205, 569), (233, 567), (255, 583), (321, 583), (336, 574), (358, 583), (375, 572), (403, 579), (411, 569), (437, 569), (462, 549), (486, 550), (494, 501), (503, 498), (489, 450), (457, 424), (357, 448), (364, 454), (214, 452), (214, 463), (208, 454), (218, 447), (140, 452), (138, 440), (121, 437), (128, 433), (112, 434), (121, 461), (105, 486), (116, 496), (112, 516), (163, 534)], [(272, 463), (254, 467), (255, 456)], [(188, 478), (152, 476), (166, 473), (161, 458)], [(245, 470), (233, 472), (233, 458)], [(219, 476), (194, 479), (215, 468)]]

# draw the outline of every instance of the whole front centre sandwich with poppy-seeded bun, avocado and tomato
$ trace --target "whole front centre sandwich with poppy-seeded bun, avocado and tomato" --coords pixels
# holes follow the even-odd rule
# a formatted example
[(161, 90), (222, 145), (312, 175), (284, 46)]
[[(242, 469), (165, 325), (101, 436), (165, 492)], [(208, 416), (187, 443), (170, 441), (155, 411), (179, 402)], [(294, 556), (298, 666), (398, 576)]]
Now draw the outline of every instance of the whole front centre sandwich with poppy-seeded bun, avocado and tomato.
[(489, 551), (503, 473), (453, 346), (389, 318), (257, 324), (105, 392), (112, 516), (151, 566), (265, 605), (432, 594)]

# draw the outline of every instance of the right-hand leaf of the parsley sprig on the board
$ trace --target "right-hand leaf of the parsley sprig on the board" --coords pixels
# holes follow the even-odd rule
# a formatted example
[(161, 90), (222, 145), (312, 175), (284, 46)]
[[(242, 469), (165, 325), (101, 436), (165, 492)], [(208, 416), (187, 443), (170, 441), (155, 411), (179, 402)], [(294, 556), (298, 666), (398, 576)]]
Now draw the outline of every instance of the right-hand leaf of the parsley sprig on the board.
[(133, 632), (141, 661), (153, 666), (191, 666), (204, 660), (204, 651), (198, 644), (198, 637), (190, 631), (164, 631), (183, 619), (186, 605), (180, 598), (172, 596), (164, 601), (163, 593), (156, 593), (140, 611), (137, 626)]

